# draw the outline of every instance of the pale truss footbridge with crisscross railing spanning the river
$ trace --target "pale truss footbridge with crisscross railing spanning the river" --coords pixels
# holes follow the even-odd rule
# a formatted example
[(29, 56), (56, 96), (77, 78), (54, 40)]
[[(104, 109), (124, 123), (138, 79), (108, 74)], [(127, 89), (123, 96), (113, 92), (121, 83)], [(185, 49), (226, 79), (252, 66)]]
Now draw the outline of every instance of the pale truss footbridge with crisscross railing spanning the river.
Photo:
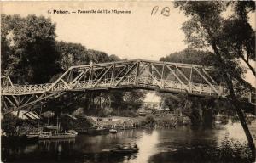
[[(125, 60), (70, 67), (55, 82), (15, 85), (2, 78), (2, 104), (8, 110), (25, 110), (46, 99), (67, 92), (138, 88), (163, 93), (187, 93), (195, 96), (228, 98), (212, 67), (148, 60)], [(244, 93), (249, 103), (252, 93)], [(28, 109), (31, 110), (31, 109)]]

